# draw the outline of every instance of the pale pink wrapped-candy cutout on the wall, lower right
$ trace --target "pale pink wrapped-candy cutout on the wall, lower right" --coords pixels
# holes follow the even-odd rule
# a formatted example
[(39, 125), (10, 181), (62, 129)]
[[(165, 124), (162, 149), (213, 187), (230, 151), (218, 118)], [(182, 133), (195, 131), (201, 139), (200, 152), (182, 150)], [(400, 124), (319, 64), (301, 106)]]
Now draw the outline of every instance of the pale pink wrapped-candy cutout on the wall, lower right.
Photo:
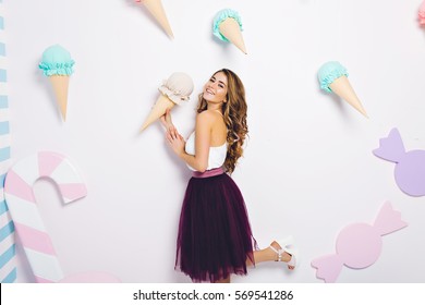
[[(381, 236), (406, 227), (399, 211), (386, 202), (373, 225), (359, 222), (347, 225), (339, 233), (336, 254), (326, 255), (312, 261), (317, 269), (316, 277), (332, 283), (338, 279), (342, 266), (362, 269), (373, 265), (382, 249)], [(403, 252), (400, 252), (403, 255)]]

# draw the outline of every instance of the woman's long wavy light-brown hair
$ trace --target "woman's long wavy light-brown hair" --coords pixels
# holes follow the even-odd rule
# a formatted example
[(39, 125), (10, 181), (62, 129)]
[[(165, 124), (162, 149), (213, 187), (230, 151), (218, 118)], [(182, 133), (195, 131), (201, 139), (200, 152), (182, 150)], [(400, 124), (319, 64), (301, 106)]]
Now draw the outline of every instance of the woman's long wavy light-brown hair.
[[(247, 135), (248, 129), (246, 124), (247, 105), (245, 100), (245, 87), (239, 76), (229, 69), (221, 69), (214, 73), (222, 72), (228, 78), (227, 102), (222, 105), (222, 113), (224, 123), (228, 129), (227, 142), (228, 152), (226, 156), (226, 171), (232, 173), (236, 166), (238, 159), (243, 155), (243, 143)], [(201, 113), (207, 109), (208, 103), (199, 94), (199, 103), (197, 112)]]

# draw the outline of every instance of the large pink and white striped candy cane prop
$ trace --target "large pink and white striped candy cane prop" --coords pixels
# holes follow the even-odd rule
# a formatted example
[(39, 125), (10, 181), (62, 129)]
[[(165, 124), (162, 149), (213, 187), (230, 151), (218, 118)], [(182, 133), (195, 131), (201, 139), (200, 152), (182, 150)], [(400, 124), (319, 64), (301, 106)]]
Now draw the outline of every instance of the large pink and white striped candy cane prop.
[(33, 192), (39, 178), (52, 179), (65, 204), (86, 196), (87, 188), (69, 159), (52, 151), (41, 151), (20, 160), (5, 176), (5, 202), (36, 281), (59, 282), (63, 272)]

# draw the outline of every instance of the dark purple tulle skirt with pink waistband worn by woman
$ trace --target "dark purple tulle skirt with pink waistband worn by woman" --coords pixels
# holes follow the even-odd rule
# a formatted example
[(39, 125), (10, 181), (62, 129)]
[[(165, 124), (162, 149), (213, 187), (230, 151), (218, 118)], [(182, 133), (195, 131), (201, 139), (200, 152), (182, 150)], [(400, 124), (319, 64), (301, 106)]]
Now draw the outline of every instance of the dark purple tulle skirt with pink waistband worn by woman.
[(194, 172), (180, 215), (175, 268), (194, 282), (246, 274), (256, 242), (241, 191), (221, 169)]

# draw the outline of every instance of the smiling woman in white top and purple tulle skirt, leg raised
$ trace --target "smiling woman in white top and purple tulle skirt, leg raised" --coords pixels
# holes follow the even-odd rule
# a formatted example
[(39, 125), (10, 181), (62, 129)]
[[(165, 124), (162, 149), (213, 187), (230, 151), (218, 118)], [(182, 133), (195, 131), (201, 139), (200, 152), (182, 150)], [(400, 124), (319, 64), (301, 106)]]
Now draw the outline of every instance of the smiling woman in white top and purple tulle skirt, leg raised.
[(199, 95), (195, 131), (187, 142), (162, 118), (166, 139), (193, 176), (180, 216), (175, 267), (194, 282), (230, 282), (246, 274), (247, 266), (268, 260), (295, 267), (291, 241), (257, 249), (242, 194), (230, 178), (242, 156), (248, 132), (245, 89), (238, 75), (222, 69), (212, 74)]

